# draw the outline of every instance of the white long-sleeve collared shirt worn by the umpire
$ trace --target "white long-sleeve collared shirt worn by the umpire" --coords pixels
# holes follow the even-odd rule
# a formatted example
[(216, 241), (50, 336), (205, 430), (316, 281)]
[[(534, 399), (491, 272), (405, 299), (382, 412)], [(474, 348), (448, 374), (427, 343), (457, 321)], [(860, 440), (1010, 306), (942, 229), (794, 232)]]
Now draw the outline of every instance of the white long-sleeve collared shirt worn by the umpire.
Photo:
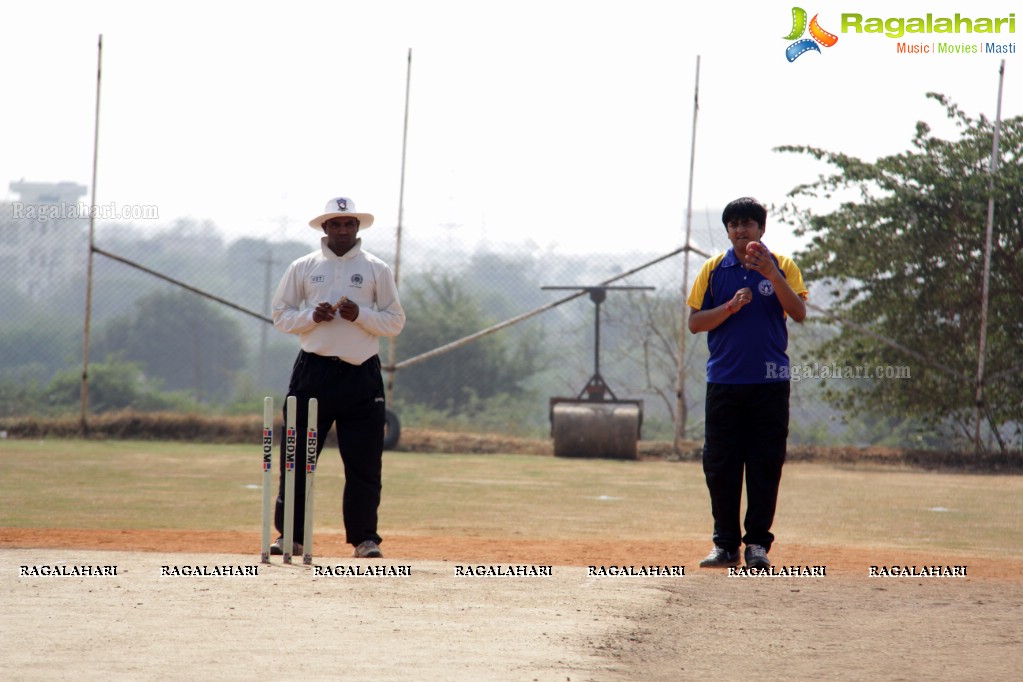
[[(359, 306), (354, 322), (340, 315), (328, 322), (313, 322), (318, 304), (333, 305), (343, 295)], [(338, 256), (323, 237), (319, 251), (292, 263), (277, 285), (272, 316), (277, 329), (299, 334), (302, 350), (337, 356), (353, 365), (380, 352), (381, 336), (397, 336), (405, 326), (391, 268), (362, 251), (362, 239)]]

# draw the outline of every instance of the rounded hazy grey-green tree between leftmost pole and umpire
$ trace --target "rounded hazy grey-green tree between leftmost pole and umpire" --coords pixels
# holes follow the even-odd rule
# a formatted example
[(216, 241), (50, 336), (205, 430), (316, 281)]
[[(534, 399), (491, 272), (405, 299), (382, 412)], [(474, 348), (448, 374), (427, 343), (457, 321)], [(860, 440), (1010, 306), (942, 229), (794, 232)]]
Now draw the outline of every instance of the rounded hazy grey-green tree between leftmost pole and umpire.
[(95, 352), (137, 363), (167, 390), (189, 391), (199, 403), (227, 398), (246, 364), (237, 321), (188, 291), (139, 299), (132, 313), (103, 326)]

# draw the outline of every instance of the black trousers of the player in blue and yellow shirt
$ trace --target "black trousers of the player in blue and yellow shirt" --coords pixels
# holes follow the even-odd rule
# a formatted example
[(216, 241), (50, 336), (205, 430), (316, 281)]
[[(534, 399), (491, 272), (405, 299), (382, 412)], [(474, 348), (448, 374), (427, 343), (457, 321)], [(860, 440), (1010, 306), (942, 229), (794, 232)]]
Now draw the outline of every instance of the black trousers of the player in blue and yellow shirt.
[[(703, 466), (714, 516), (714, 544), (770, 549), (789, 438), (789, 382), (708, 383)], [(746, 535), (739, 525), (746, 474)]]

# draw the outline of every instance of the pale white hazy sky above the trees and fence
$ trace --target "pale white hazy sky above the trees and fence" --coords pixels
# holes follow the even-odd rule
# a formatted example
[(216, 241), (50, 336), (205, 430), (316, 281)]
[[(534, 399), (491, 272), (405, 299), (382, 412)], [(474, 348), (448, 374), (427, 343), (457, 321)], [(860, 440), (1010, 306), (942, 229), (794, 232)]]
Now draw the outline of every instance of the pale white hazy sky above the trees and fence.
[[(793, 6), (818, 13), (837, 44), (787, 61)], [(843, 13), (1008, 17), (1019, 7), (8, 2), (0, 198), (14, 198), (8, 184), (21, 178), (91, 185), (102, 34), (96, 203), (158, 207), (146, 229), (190, 216), (228, 238), (312, 243), (306, 222), (344, 194), (376, 216), (367, 242), (390, 247), (411, 48), (407, 238), (667, 252), (683, 236), (698, 55), (694, 210), (745, 194), (773, 203), (822, 170), (773, 147), (805, 143), (872, 161), (904, 150), (918, 121), (949, 130), (928, 91), (993, 119), (1002, 58), (1003, 116), (1023, 112), (1018, 49), (898, 54), (899, 40), (841, 32)], [(1023, 12), (1016, 19), (1023, 29)], [(1016, 45), (1017, 36), (902, 41)], [(768, 244), (791, 244), (770, 230)]]

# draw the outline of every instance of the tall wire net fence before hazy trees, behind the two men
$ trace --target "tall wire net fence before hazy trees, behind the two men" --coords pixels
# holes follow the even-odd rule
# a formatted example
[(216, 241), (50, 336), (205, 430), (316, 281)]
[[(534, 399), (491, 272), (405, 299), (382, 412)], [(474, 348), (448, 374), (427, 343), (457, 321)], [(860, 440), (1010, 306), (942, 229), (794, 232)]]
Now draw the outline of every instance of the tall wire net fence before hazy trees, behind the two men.
[[(80, 404), (84, 213), (59, 201), (2, 204), (5, 416), (73, 412)], [(282, 398), (299, 347), (269, 322), (270, 301), (287, 265), (317, 247), (312, 231), (293, 231), (301, 237), (293, 239), (228, 238), (199, 217), (95, 225), (90, 410), (255, 414), (264, 396)], [(598, 368), (615, 397), (643, 401), (642, 438), (670, 441), (683, 353), (684, 434), (700, 439), (707, 343), (686, 332), (679, 344), (682, 303), (701, 254), (728, 243), (711, 212), (693, 226), (694, 253), (680, 247), (680, 229), (660, 253), (605, 254), (530, 243), (459, 247), (456, 240), (419, 241), (409, 230), (399, 281), (408, 321), (381, 354), (385, 366), (397, 367), (389, 375), (390, 406), (403, 426), (544, 437), (549, 399), (578, 397)], [(386, 227), (364, 235), (364, 248), (389, 263), (394, 243)], [(623, 288), (609, 288), (597, 307), (587, 289), (596, 285)], [(817, 352), (835, 333), (833, 323), (811, 314), (789, 326), (793, 365), (815, 367), (814, 380), (793, 376), (792, 442), (911, 444), (911, 434), (825, 400), (833, 378), (845, 380), (828, 375)]]

